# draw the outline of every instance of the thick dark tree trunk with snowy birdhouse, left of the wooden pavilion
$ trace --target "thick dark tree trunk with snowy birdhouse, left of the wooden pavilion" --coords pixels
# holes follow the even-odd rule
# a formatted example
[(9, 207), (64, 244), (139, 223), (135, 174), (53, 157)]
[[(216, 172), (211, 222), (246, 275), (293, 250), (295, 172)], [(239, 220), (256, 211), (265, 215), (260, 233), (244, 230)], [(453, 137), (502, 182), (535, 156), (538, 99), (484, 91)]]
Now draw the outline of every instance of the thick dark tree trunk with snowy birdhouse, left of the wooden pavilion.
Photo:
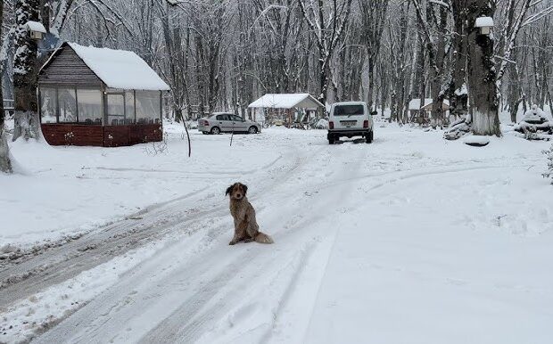
[(19, 137), (40, 138), (40, 119), (37, 106), (37, 42), (30, 38), (25, 24), (38, 21), (38, 0), (17, 0), (15, 3), (17, 29), (13, 59), (14, 130), (13, 141)]

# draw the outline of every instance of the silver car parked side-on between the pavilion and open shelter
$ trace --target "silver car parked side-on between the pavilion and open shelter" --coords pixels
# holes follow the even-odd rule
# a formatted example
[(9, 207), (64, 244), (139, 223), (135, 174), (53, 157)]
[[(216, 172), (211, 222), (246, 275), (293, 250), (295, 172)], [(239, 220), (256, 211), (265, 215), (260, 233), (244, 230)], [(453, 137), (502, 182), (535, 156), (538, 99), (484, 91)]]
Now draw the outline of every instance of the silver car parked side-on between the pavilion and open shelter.
[(198, 119), (198, 130), (203, 134), (218, 135), (219, 133), (247, 133), (261, 132), (259, 123), (236, 116), (234, 113), (214, 112), (209, 117)]

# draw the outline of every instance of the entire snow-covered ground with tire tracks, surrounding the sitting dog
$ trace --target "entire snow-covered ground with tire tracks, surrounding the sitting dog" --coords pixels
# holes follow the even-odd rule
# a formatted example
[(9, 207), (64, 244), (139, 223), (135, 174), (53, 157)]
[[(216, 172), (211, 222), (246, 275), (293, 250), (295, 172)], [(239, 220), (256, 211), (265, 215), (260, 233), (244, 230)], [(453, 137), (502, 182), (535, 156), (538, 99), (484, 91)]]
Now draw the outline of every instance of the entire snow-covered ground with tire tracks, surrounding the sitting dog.
[[(189, 159), (167, 129), (164, 149), (12, 146), (27, 173), (0, 176), (0, 342), (553, 338), (550, 143), (270, 128), (232, 147), (193, 132)], [(227, 245), (235, 181), (275, 244)]]

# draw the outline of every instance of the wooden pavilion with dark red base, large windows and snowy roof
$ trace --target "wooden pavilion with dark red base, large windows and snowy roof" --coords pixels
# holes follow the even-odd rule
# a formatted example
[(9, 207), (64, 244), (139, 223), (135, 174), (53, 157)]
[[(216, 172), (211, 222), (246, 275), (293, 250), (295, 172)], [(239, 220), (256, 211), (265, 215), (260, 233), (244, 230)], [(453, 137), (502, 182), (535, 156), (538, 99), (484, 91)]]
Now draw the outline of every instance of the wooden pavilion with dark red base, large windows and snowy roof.
[(164, 91), (136, 53), (63, 43), (38, 72), (43, 135), (52, 145), (161, 141)]

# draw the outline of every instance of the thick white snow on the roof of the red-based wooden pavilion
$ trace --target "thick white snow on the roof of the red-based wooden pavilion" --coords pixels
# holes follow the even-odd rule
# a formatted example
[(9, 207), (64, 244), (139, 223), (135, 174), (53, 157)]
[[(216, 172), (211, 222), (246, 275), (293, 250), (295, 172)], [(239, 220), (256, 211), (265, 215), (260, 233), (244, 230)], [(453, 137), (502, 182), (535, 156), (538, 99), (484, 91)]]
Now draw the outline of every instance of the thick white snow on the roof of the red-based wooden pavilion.
[(136, 53), (69, 43), (88, 68), (111, 88), (169, 91), (169, 86)]

